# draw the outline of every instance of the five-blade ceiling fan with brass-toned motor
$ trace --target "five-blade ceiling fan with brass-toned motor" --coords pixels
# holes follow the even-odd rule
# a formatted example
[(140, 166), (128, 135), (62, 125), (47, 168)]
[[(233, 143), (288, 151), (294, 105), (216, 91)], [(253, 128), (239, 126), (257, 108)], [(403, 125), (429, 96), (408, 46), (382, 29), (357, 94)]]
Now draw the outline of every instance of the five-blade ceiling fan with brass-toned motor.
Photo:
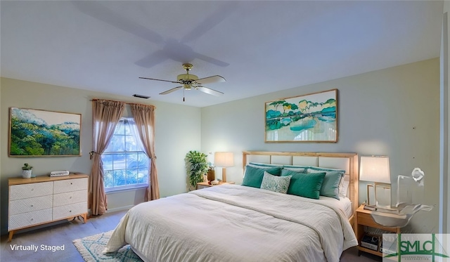
[[(160, 95), (167, 95), (168, 93), (172, 93), (173, 91), (177, 91), (179, 89), (183, 89), (183, 92), (185, 90), (191, 90), (195, 89), (198, 91), (201, 91), (203, 93), (208, 93), (213, 96), (221, 96), (224, 93), (214, 90), (214, 89), (208, 89), (206, 86), (202, 86), (202, 84), (211, 84), (211, 83), (219, 83), (226, 81), (224, 77), (221, 77), (219, 75), (214, 75), (212, 77), (204, 77), (204, 78), (198, 78), (195, 74), (189, 74), (189, 71), (192, 69), (193, 65), (191, 64), (183, 64), (184, 70), (186, 70), (186, 74), (179, 74), (176, 77), (176, 81), (171, 80), (163, 80), (163, 79), (155, 79), (155, 78), (148, 78), (148, 77), (139, 77), (140, 79), (149, 79), (149, 80), (157, 80), (157, 81), (165, 81), (170, 82), (174, 84), (181, 84), (181, 86), (176, 86), (173, 89), (169, 89), (167, 91), (164, 91), (160, 93)], [(184, 101), (184, 96), (183, 96)]]

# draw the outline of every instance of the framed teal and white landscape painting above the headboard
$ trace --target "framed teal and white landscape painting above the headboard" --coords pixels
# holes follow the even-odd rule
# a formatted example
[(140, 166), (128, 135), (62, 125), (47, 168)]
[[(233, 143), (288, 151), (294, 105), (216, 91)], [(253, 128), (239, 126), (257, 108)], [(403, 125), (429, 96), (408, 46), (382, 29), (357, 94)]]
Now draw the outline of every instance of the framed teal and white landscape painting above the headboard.
[(338, 142), (338, 89), (266, 102), (266, 142)]

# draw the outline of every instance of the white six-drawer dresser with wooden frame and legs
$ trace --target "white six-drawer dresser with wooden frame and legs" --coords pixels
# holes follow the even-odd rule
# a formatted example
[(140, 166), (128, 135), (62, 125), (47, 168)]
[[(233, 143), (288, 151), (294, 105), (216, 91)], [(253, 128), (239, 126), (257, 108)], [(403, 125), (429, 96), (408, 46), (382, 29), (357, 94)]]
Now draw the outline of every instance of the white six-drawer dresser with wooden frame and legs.
[(9, 178), (8, 242), (14, 232), (34, 225), (82, 216), (87, 221), (88, 176)]

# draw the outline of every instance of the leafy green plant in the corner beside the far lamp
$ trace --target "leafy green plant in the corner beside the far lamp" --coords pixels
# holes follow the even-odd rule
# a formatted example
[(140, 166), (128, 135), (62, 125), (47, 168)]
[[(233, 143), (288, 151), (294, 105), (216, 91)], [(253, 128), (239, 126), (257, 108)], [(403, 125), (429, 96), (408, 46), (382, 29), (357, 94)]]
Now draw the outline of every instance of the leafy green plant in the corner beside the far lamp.
[(203, 181), (203, 175), (205, 175), (209, 169), (206, 157), (207, 155), (202, 152), (192, 150), (186, 154), (186, 168), (191, 188), (195, 188), (197, 183)]

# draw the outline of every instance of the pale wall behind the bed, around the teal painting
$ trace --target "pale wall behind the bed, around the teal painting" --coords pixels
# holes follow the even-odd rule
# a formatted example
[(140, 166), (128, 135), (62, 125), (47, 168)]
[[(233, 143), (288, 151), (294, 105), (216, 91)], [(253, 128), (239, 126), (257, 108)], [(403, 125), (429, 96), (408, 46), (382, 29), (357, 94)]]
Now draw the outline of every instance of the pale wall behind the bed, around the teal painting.
[[(338, 89), (338, 143), (264, 143), (264, 102)], [(439, 59), (202, 108), (203, 152), (235, 152), (229, 181), (242, 182), (243, 150), (357, 152), (390, 157), (392, 188), (399, 174), (425, 171), (424, 204), (414, 232), (437, 232), (439, 214)], [(221, 176), (216, 170), (217, 176)], [(366, 197), (360, 183), (359, 202)], [(394, 190), (393, 190), (394, 191)], [(394, 195), (393, 197), (395, 197)]]

